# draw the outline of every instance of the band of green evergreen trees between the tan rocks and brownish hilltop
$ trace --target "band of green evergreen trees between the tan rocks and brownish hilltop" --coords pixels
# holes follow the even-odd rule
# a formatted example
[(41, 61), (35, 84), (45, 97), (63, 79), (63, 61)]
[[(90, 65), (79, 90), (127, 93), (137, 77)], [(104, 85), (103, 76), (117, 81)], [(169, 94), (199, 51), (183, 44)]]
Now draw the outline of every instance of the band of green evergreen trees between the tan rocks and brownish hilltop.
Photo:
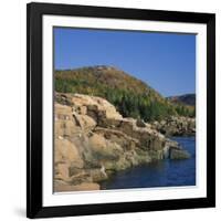
[(161, 120), (169, 116), (194, 117), (194, 107), (171, 104), (159, 97), (154, 91), (135, 93), (120, 88), (112, 88), (87, 80), (55, 77), (55, 91), (62, 93), (80, 93), (106, 98), (115, 105), (124, 117), (140, 118), (145, 122)]

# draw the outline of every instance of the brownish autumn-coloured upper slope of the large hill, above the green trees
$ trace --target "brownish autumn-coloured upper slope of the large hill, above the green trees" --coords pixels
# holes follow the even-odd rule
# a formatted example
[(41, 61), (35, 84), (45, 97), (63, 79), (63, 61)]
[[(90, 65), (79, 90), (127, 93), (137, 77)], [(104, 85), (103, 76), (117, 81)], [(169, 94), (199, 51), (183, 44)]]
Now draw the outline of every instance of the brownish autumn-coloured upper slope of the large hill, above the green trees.
[[(95, 65), (74, 70), (55, 71), (55, 80), (70, 81), (65, 85), (66, 87), (63, 84), (60, 85), (62, 88), (57, 87), (57, 90), (62, 91), (73, 91), (74, 88), (72, 86), (75, 86), (77, 87), (77, 90), (96, 94), (101, 93), (101, 90), (105, 90), (104, 87), (108, 87), (112, 90), (120, 88), (122, 91), (133, 92), (136, 94), (145, 93), (146, 95), (148, 95), (152, 93), (158, 98), (160, 97), (160, 95), (149, 85), (114, 66)], [(75, 82), (75, 80), (77, 81), (77, 83)], [(72, 86), (70, 85), (71, 83), (73, 83)], [(101, 84), (103, 84), (103, 88), (99, 88)], [(80, 85), (84, 85), (86, 86), (86, 88), (81, 88)]]

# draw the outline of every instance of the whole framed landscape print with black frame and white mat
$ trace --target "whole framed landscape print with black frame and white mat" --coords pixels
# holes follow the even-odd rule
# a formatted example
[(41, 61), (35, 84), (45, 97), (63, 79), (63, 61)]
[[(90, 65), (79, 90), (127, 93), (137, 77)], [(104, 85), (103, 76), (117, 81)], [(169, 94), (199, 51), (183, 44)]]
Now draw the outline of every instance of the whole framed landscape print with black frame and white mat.
[(29, 218), (215, 206), (215, 15), (28, 4)]

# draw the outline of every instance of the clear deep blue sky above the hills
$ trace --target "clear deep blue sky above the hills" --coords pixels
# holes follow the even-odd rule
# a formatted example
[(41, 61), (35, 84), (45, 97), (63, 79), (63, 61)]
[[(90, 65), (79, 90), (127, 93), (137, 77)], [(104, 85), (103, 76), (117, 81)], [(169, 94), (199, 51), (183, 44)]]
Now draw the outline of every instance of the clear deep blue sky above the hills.
[(194, 93), (196, 35), (54, 29), (56, 70), (116, 66), (164, 96)]

